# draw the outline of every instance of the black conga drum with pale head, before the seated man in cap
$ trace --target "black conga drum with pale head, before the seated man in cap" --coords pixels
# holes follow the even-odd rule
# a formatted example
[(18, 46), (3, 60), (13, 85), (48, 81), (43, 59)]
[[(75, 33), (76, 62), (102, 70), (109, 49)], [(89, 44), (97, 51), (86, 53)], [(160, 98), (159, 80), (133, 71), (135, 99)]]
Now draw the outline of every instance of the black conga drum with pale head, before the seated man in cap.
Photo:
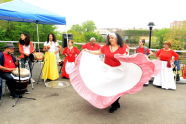
[[(20, 78), (19, 78), (20, 75)], [(26, 92), (27, 86), (30, 82), (30, 72), (25, 68), (20, 68), (20, 74), (18, 68), (12, 71), (11, 76), (14, 79), (15, 83), (15, 93), (17, 95), (22, 95)]]

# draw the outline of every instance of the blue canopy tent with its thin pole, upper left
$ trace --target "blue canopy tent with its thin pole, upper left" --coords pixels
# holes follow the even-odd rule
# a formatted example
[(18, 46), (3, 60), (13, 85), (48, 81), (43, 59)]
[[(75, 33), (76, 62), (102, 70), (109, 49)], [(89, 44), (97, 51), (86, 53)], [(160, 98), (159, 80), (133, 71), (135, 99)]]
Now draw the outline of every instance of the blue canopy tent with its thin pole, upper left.
[(55, 15), (23, 0), (0, 4), (0, 20), (36, 23), (39, 47), (38, 24), (66, 25), (66, 18)]

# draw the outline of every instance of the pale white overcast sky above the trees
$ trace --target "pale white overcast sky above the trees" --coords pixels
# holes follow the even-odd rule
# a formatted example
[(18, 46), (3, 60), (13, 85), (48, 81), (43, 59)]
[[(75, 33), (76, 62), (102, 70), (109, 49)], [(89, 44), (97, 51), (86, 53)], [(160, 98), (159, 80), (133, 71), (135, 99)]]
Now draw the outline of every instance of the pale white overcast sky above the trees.
[[(93, 20), (97, 28), (169, 27), (186, 20), (186, 0), (24, 0), (65, 16), (67, 27)], [(64, 27), (59, 28), (64, 29)]]

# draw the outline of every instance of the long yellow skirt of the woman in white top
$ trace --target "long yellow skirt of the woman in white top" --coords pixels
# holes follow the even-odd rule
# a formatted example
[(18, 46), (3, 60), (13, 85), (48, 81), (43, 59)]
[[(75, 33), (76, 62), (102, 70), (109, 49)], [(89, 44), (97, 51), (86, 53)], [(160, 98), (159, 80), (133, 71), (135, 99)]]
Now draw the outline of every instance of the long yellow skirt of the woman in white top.
[(55, 52), (46, 52), (42, 70), (42, 79), (56, 80), (59, 78)]

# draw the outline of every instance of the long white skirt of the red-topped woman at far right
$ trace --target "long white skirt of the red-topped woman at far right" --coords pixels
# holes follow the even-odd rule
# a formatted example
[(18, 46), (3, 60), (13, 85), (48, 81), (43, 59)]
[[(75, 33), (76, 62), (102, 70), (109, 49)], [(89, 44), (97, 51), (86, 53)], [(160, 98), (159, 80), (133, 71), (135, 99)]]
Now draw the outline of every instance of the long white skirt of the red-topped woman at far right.
[(160, 73), (155, 76), (153, 85), (161, 86), (164, 89), (176, 89), (176, 81), (172, 68), (167, 67), (167, 61), (162, 61)]

